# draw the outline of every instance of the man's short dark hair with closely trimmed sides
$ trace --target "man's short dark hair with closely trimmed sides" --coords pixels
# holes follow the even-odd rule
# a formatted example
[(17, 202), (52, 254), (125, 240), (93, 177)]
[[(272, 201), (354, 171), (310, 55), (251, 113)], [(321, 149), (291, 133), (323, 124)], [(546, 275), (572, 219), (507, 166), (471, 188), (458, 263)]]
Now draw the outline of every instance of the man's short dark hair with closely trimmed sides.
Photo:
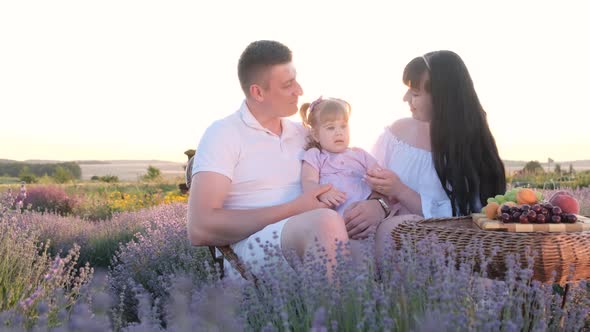
[(266, 70), (274, 65), (291, 62), (291, 50), (274, 40), (258, 40), (246, 47), (238, 62), (238, 77), (246, 96), (250, 95), (250, 85), (256, 83), (268, 88)]

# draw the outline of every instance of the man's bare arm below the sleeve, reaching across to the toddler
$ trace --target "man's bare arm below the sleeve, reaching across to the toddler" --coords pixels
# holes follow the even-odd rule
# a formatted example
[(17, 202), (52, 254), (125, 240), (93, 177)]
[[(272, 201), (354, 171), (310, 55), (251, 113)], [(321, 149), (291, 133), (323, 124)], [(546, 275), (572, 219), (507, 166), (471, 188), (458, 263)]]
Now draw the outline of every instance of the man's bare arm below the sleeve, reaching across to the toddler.
[(223, 202), (231, 180), (215, 172), (193, 176), (188, 205), (188, 235), (193, 245), (236, 243), (265, 226), (309, 210), (325, 207), (317, 196), (330, 190), (321, 186), (293, 201), (259, 209), (226, 210)]

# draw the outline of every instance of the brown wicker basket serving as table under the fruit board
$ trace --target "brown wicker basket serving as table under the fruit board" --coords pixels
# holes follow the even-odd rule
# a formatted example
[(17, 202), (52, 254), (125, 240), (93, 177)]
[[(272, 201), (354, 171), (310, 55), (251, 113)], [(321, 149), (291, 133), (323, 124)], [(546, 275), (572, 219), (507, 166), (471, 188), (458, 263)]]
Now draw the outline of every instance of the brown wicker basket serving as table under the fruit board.
[[(526, 262), (527, 247), (536, 253), (533, 279), (542, 283), (565, 284), (569, 281), (590, 279), (590, 232), (577, 233), (512, 233), (484, 231), (477, 227), (471, 216), (456, 218), (424, 219), (400, 224), (392, 231), (395, 242), (400, 244), (402, 236), (418, 241), (436, 235), (443, 242), (454, 244), (463, 250), (474, 240), (479, 241), (486, 254), (494, 247), (500, 250), (489, 266), (488, 275), (503, 278), (506, 272), (505, 256), (520, 254)], [(573, 273), (570, 266), (575, 269)], [(553, 271), (556, 272), (552, 279)], [(571, 275), (570, 275), (571, 274)]]

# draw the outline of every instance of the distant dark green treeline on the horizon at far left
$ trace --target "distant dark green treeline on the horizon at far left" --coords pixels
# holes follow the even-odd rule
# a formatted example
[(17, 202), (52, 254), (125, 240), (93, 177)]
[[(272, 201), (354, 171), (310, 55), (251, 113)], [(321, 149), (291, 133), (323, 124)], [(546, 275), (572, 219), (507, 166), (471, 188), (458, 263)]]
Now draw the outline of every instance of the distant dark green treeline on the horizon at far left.
[(42, 177), (45, 175), (54, 177), (60, 172), (66, 171), (75, 179), (82, 177), (82, 169), (75, 162), (53, 163), (53, 164), (30, 164), (23, 162), (0, 163), (0, 175), (10, 177), (22, 177), (23, 175), (34, 175)]

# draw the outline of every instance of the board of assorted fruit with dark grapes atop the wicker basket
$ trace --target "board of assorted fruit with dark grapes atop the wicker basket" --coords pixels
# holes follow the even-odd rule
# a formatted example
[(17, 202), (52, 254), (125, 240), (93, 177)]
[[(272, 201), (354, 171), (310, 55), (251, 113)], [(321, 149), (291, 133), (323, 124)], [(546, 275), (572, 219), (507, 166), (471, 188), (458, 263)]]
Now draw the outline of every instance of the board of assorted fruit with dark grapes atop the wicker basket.
[(544, 200), (540, 192), (514, 188), (490, 197), (473, 222), (484, 230), (508, 232), (590, 231), (590, 218), (580, 216), (579, 202), (566, 191)]

